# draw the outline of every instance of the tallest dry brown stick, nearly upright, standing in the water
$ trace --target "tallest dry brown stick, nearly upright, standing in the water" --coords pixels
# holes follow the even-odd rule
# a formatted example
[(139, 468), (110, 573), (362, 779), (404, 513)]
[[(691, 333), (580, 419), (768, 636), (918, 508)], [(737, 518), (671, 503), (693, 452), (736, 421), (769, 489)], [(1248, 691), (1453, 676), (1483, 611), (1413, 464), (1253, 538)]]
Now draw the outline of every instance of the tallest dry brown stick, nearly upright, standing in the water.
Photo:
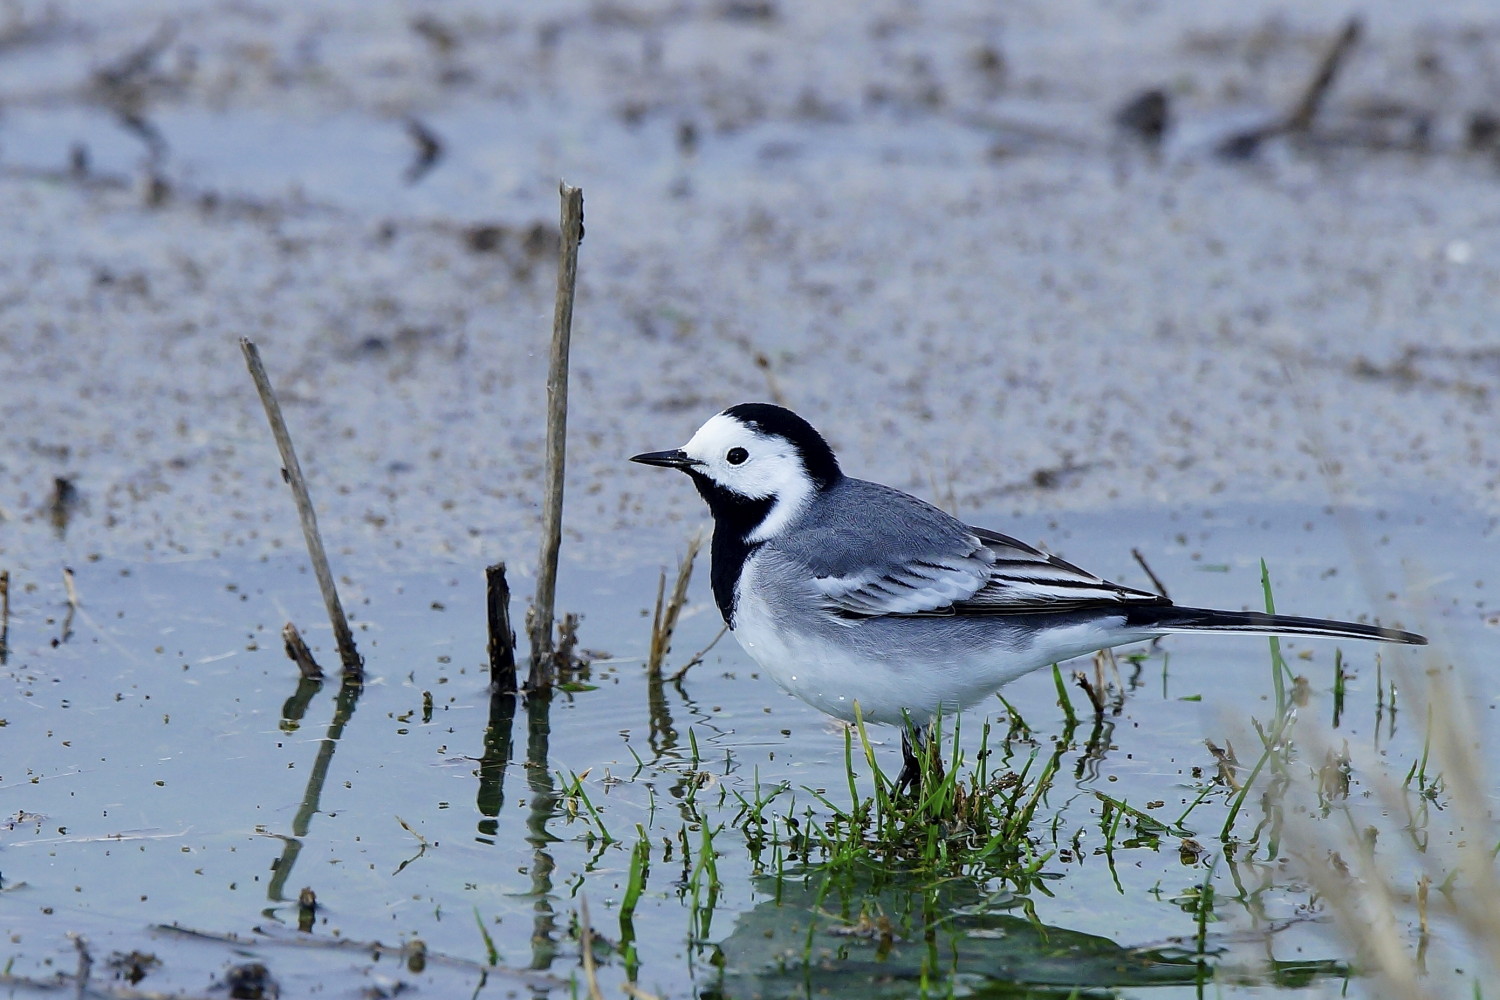
[(562, 546), (562, 471), (567, 451), (567, 357), (573, 339), (573, 289), (578, 286), (578, 244), (584, 241), (584, 190), (558, 184), (562, 196), (562, 241), (558, 255), (558, 295), (552, 313), (552, 364), (548, 370), (546, 496), (542, 508), (542, 558), (537, 597), (531, 609), (532, 691), (552, 687), (552, 618), (556, 607), (558, 549)]

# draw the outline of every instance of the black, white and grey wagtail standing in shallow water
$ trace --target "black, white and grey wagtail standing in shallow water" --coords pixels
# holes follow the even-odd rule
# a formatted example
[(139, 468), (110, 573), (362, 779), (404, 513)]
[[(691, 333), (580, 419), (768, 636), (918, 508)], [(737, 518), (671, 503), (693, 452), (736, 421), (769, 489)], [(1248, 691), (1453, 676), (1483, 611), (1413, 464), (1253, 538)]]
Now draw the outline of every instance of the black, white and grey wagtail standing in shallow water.
[(1112, 583), (844, 475), (824, 436), (774, 403), (729, 406), (681, 448), (630, 460), (693, 480), (714, 520), (714, 603), (762, 670), (834, 718), (902, 727), (897, 787), (920, 780), (912, 741), (922, 747), (938, 718), (1098, 649), (1170, 633), (1426, 643), (1358, 622), (1179, 607)]

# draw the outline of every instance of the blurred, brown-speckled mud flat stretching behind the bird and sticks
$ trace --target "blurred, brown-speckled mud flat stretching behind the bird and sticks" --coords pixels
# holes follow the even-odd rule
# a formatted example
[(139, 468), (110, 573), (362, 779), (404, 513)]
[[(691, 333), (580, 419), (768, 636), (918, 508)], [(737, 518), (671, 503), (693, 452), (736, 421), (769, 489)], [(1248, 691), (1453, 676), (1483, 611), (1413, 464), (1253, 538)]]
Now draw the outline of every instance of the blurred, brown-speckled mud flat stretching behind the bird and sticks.
[(699, 517), (622, 456), (764, 397), (992, 519), (1322, 504), (1320, 456), (1496, 513), (1492, 7), (1362, 7), (1311, 129), (1215, 154), (1347, 13), (8, 4), (0, 552), (298, 546), (249, 336), (334, 549), (526, 562), (560, 177), (573, 558)]

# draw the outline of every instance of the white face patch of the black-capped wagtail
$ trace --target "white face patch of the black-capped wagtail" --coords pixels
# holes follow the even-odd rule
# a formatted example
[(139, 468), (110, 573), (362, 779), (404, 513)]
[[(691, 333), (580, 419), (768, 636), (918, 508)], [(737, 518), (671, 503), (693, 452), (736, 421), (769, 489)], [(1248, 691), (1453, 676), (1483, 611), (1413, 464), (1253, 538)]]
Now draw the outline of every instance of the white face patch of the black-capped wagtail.
[(708, 418), (682, 453), (702, 465), (698, 472), (750, 499), (774, 499), (771, 513), (746, 538), (765, 541), (782, 531), (813, 498), (813, 478), (796, 447), (780, 435), (762, 435), (734, 417)]

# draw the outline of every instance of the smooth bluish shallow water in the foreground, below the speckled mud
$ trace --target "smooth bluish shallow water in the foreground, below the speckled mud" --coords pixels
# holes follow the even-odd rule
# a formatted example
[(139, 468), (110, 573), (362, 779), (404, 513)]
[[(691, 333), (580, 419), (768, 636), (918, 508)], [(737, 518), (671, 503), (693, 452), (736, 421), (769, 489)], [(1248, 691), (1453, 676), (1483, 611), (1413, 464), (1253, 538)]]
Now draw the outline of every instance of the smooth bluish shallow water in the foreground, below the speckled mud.
[[(1494, 628), (1496, 609), (1484, 600), (1494, 525), (1413, 502), (1356, 511), (1350, 523), (1376, 571), (1402, 594), (1401, 622), (1443, 637), (1461, 667), (1478, 666)], [(1258, 555), (1282, 610), (1356, 616), (1378, 600), (1352, 579), (1340, 520), (1318, 510), (1146, 510), (1070, 517), (1066, 529), (996, 526), (1140, 585), (1126, 550), (1136, 543), (1179, 601), (1256, 606)], [(662, 547), (663, 564), (674, 561), (672, 540)], [(1425, 577), (1418, 562), (1442, 565), (1444, 576)], [(1212, 978), (1196, 961), (1200, 952), (1210, 967), (1234, 970), (1210, 987), (1224, 996), (1276, 985), (1346, 990), (1350, 955), (1306, 910), (1305, 888), (1275, 865), (1214, 862), (1222, 795), (1184, 822), (1208, 847), (1202, 861), (1184, 864), (1168, 835), (1116, 847), (1112, 858), (1096, 853), (1096, 792), (1137, 808), (1160, 802), (1152, 814), (1170, 822), (1202, 787), (1192, 768), (1212, 774), (1203, 738), (1245, 741), (1246, 714), (1269, 717), (1263, 640), (1173, 637), (1136, 667), (1122, 664), (1130, 685), (1120, 712), (1106, 718), (1102, 742), (1089, 745), (1076, 730), (1059, 745), (1060, 775), (1038, 814), (1046, 822), (1032, 829), (1048, 849), (1072, 843), (1082, 852), (1054, 856), (1044, 891), (1018, 895), (982, 874), (933, 885), (890, 870), (826, 868), (816, 855), (772, 862), (774, 850), (750, 850), (736, 796), (782, 789), (766, 816), (804, 823), (826, 813), (818, 795), (848, 804), (843, 736), (756, 678), (729, 639), (681, 685), (652, 693), (640, 655), (654, 568), (570, 567), (561, 606), (584, 615), (585, 648), (612, 655), (580, 678), (586, 690), (556, 694), (548, 735), (536, 706), (514, 709), (508, 745), (496, 714), (504, 703), (492, 706), (484, 690), (477, 567), (351, 573), (345, 603), (369, 682), (357, 699), (330, 682), (300, 708), (279, 624), (300, 621), (326, 666), (333, 661), (300, 559), (99, 559), (75, 570), (82, 603), (70, 622), (60, 582), (12, 583), (0, 922), (15, 976), (70, 972), (69, 934), (80, 934), (94, 976), (112, 975), (104, 967), (110, 954), (154, 955), (160, 964), (141, 988), (158, 991), (201, 993), (230, 966), (255, 960), (284, 996), (398, 981), (566, 993), (582, 975), (576, 921), (586, 901), (604, 940), (596, 952), (606, 991), (630, 970), (658, 996), (910, 996), (922, 982), (944, 993), (950, 976), (960, 993), (1024, 984), (1058, 996), (1076, 985), (1196, 996)], [(704, 577), (700, 568), (672, 664), (717, 631)], [(1316, 693), (1305, 711), (1326, 715), (1332, 643), (1287, 648)], [(1406, 760), (1420, 748), (1420, 726), (1376, 712), (1380, 654), (1344, 643), (1353, 679), (1338, 732), (1378, 739)], [(1034, 675), (1005, 696), (1036, 742), (992, 733), (1000, 762), (1020, 768), (1050, 754), (1064, 732), (1052, 678)], [(1496, 711), (1494, 700), (1484, 699), (1482, 711)], [(1004, 730), (998, 703), (990, 715)], [(978, 712), (963, 720), (970, 751), (980, 721)], [(873, 736), (882, 768), (894, 771), (892, 733)], [(855, 760), (868, 795), (858, 753)], [(572, 789), (574, 775), (584, 795)], [(699, 873), (705, 825), (716, 892)], [(642, 832), (650, 868), (626, 928), (618, 907)], [(1192, 900), (1203, 885), (1216, 898), (1200, 948)], [(308, 934), (296, 930), (303, 886), (318, 900)], [(922, 931), (924, 913), (936, 939)], [(504, 970), (480, 970), (486, 946), (476, 915)], [(868, 930), (876, 915), (892, 928), (884, 942)], [(429, 949), (423, 972), (394, 954), (374, 958), (366, 946), (412, 939)], [(626, 939), (628, 960), (616, 948)], [(1262, 958), (1284, 966), (1270, 972)], [(1364, 996), (1358, 979), (1347, 988)]]

